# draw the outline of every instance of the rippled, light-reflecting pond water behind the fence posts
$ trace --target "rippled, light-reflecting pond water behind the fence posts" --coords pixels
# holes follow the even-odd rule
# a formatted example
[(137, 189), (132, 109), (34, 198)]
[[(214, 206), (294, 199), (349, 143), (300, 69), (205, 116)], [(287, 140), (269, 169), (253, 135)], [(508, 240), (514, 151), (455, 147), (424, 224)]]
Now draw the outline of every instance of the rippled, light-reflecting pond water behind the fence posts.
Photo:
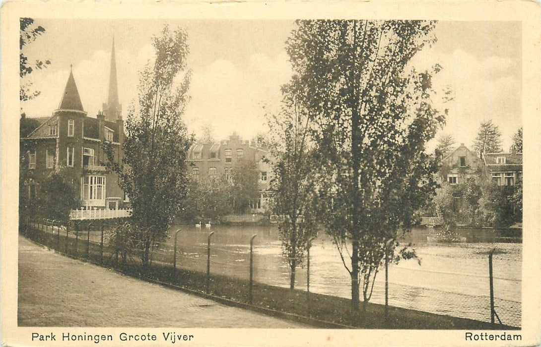
[[(249, 240), (254, 234), (254, 281), (288, 287), (289, 270), (282, 256), (276, 225), (175, 225), (179, 232), (177, 266), (206, 271), (207, 238), (211, 238), (211, 272), (249, 277)], [(490, 321), (488, 254), (493, 256), (494, 297), (498, 316), (504, 324), (519, 326), (521, 312), (522, 243), (520, 232), (491, 229), (457, 229), (463, 243), (428, 242), (434, 229), (413, 229), (404, 238), (412, 243), (420, 259), (401, 261), (389, 267), (389, 304), (403, 308), (456, 317)], [(171, 237), (156, 252), (173, 249)], [(325, 233), (312, 243), (311, 292), (351, 297), (351, 280), (338, 250)], [(306, 267), (299, 267), (296, 288), (306, 290)], [(361, 292), (362, 297), (362, 292)], [(361, 298), (362, 299), (362, 298)], [(385, 303), (385, 272), (374, 284), (371, 302)]]

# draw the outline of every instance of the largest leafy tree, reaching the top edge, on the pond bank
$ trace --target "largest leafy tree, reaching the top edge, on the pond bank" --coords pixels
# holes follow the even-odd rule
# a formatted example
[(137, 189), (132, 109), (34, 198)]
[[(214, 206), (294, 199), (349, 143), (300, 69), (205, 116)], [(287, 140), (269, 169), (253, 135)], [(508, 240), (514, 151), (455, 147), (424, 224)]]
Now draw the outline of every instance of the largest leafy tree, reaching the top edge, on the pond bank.
[[(312, 119), (321, 220), (351, 276), (352, 308), (359, 279), (366, 303), (398, 230), (436, 188), (425, 143), (443, 125), (432, 107), (431, 75), (408, 68), (431, 36), (433, 22), (297, 21), (287, 41), (299, 106)], [(403, 256), (412, 253), (403, 248)], [(347, 259), (349, 258), (349, 259)], [(347, 261), (346, 261), (347, 260)]]

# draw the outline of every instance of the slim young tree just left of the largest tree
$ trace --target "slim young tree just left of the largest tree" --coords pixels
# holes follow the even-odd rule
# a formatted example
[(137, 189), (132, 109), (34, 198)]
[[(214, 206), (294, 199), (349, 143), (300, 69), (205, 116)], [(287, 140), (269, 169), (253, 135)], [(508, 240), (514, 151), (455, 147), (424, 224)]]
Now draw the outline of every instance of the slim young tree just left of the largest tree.
[(309, 117), (295, 107), (294, 95), (283, 88), (283, 109), (269, 117), (273, 159), (273, 213), (284, 216), (279, 225), (283, 255), (289, 271), (289, 288), (295, 287), (295, 270), (302, 264), (308, 243), (316, 236), (317, 167), (313, 158), (314, 144), (309, 142)]

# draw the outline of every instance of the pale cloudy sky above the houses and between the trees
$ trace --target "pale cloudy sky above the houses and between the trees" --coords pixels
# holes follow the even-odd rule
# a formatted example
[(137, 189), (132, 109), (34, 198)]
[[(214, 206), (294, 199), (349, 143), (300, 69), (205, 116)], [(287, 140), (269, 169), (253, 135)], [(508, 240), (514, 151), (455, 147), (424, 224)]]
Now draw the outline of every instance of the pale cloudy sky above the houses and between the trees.
[[(52, 64), (25, 78), (41, 95), (21, 104), (29, 117), (48, 116), (58, 107), (70, 64), (85, 111), (95, 117), (107, 97), (111, 42), (115, 36), (118, 90), (123, 110), (137, 96), (137, 72), (152, 58), (150, 38), (163, 21), (96, 21), (36, 18), (46, 33), (25, 47), (30, 60)], [(265, 131), (265, 112), (278, 108), (280, 85), (291, 76), (284, 43), (291, 21), (168, 21), (189, 36), (193, 70), (185, 121), (201, 134), (212, 124), (216, 138), (233, 131), (248, 139)], [(439, 63), (434, 86), (453, 91), (447, 125), (457, 145), (472, 146), (478, 125), (492, 119), (504, 149), (522, 124), (522, 36), (519, 22), (439, 22), (438, 42), (421, 51), (418, 68)], [(124, 115), (126, 112), (124, 112)]]

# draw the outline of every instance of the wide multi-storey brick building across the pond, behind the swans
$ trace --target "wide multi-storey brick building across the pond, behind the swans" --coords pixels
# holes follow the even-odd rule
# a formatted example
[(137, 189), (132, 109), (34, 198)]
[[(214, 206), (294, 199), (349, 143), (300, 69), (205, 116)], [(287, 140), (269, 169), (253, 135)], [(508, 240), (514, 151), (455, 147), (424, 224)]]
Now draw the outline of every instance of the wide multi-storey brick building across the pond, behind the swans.
[(237, 135), (216, 143), (196, 143), (188, 152), (191, 178), (224, 178), (231, 181), (233, 169), (241, 160), (256, 163), (258, 168), (259, 196), (250, 202), (252, 213), (262, 213), (268, 209), (271, 166), (265, 162), (269, 151), (254, 141), (243, 141)]

